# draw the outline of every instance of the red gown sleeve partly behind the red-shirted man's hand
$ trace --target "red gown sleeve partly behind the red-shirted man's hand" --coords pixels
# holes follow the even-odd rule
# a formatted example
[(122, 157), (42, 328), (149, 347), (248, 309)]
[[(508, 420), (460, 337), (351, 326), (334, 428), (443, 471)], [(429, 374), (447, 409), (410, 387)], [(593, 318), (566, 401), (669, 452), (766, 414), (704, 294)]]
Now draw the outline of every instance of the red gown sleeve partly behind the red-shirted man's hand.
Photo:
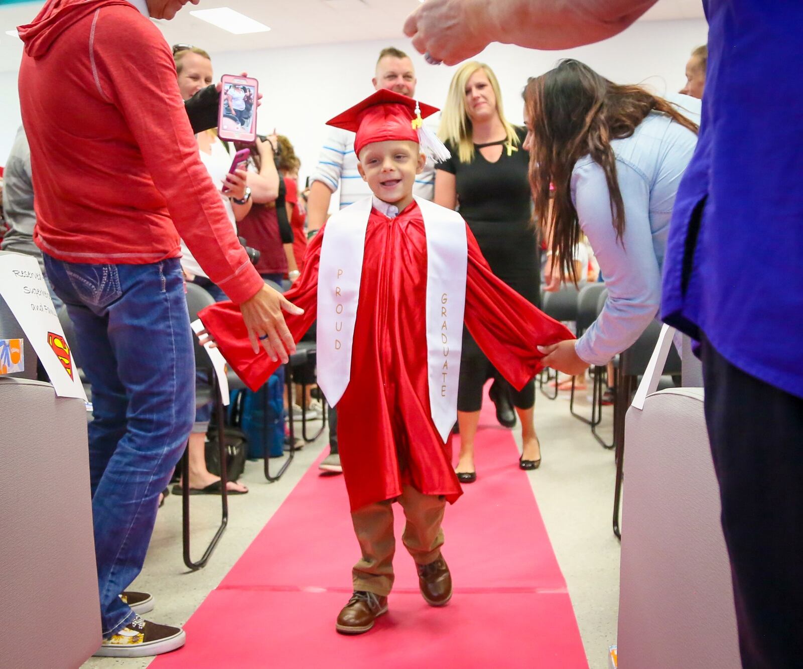
[[(309, 244), (304, 271), (299, 279), (284, 296), (287, 300), (304, 309), (300, 316), (284, 312), (284, 320), (294, 341), (304, 337), (304, 332), (310, 328), (316, 319), (318, 307), (318, 265), (320, 263), (320, 244), (323, 241), (324, 230), (312, 238)], [(238, 306), (231, 302), (218, 302), (198, 312), (206, 330), (210, 332), (218, 349), (238, 377), (251, 388), (259, 390), (271, 374), (278, 369), (279, 361), (271, 361), (267, 353), (260, 346), (259, 353), (251, 349), (248, 331), (243, 313)]]

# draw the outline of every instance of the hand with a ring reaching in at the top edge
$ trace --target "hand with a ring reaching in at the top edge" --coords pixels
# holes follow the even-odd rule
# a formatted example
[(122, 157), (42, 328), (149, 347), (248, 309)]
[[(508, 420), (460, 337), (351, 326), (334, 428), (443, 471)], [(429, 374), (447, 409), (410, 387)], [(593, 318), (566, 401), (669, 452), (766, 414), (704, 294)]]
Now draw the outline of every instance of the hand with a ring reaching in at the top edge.
[(479, 54), (501, 37), (495, 30), (495, 17), (488, 8), (492, 2), (477, 0), (426, 0), (404, 24), (404, 33), (413, 39), (419, 53), (455, 65)]

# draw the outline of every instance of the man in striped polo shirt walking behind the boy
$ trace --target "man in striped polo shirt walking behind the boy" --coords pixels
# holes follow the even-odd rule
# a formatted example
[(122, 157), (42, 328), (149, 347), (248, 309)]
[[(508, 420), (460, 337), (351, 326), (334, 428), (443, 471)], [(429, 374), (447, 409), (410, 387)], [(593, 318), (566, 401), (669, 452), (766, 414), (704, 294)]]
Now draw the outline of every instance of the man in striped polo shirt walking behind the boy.
[[(376, 73), (371, 80), (377, 91), (388, 88), (408, 97), (415, 97), (415, 69), (410, 57), (394, 47), (382, 49), (377, 59)], [(324, 148), (312, 173), (307, 204), (309, 235), (315, 235), (326, 221), (332, 194), (340, 187), (340, 209), (371, 195), (371, 190), (357, 172), (357, 154), (354, 153), (354, 133), (340, 128), (329, 128)], [(431, 200), (434, 194), (434, 163), (427, 160), (424, 171), (418, 175), (413, 189), (419, 198)], [(337, 453), (337, 414), (329, 412), (330, 454), (320, 463), (323, 471), (343, 471)]]

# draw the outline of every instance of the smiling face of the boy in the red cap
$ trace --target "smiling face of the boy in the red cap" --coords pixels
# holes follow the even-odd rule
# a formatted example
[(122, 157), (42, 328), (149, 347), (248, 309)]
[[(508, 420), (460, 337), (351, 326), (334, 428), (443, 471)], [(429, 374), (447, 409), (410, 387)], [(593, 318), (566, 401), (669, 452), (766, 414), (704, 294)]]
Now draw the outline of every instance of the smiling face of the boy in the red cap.
[(416, 174), (426, 165), (426, 157), (414, 141), (376, 141), (360, 152), (357, 169), (380, 200), (403, 210), (413, 202)]

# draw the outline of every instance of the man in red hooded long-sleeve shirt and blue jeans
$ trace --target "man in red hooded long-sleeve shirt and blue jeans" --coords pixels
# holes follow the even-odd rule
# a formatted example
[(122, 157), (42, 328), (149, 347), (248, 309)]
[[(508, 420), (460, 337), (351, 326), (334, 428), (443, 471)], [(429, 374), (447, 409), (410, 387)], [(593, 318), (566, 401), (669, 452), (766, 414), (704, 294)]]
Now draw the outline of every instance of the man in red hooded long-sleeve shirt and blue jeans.
[(98, 655), (157, 655), (185, 639), (139, 617), (148, 601), (120, 597), (141, 570), (157, 497), (194, 418), (179, 235), (240, 305), (254, 349), (259, 337), (274, 359), (294, 350), (282, 310), (295, 308), (265, 286), (234, 236), (198, 157), (173, 58), (149, 21), (173, 18), (185, 2), (48, 0), (18, 29), (35, 242), (92, 384)]

